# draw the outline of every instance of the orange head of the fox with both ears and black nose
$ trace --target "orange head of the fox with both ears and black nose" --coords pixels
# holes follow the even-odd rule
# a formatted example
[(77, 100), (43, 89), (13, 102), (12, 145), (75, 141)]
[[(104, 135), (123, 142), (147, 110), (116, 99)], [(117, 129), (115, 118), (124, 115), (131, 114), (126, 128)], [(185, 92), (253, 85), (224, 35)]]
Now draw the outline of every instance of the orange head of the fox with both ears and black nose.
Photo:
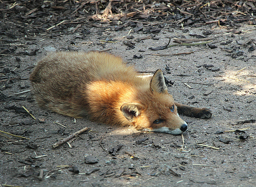
[(120, 110), (137, 129), (182, 134), (188, 128), (178, 116), (160, 69), (154, 73), (149, 89), (138, 92), (135, 102), (124, 103)]

